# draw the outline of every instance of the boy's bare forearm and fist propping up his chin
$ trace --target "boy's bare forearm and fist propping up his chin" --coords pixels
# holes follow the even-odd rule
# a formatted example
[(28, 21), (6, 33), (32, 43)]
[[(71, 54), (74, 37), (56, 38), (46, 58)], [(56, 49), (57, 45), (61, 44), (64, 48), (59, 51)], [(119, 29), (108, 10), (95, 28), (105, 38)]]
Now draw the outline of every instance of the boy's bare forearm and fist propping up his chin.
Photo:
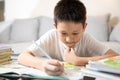
[(113, 50), (109, 49), (105, 55), (102, 56), (94, 56), (94, 57), (78, 57), (76, 56), (75, 52), (73, 49), (66, 49), (65, 55), (64, 55), (64, 60), (68, 63), (72, 63), (77, 66), (83, 66), (88, 63), (89, 60), (100, 60), (112, 56), (117, 56), (118, 54), (114, 52)]

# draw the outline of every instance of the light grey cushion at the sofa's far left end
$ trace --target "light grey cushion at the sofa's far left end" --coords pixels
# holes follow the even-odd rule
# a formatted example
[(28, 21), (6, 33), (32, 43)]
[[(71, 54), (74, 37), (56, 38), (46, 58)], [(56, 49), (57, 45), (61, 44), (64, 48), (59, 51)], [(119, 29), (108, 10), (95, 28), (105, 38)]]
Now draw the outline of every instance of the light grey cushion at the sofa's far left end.
[(0, 43), (7, 43), (10, 36), (10, 28), (13, 21), (0, 22)]

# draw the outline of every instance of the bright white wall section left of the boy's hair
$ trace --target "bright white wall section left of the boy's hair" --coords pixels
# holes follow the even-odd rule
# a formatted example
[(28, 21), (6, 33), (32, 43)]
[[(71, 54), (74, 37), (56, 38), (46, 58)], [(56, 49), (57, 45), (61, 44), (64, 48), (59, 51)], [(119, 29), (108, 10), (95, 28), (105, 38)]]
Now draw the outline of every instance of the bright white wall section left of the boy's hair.
[(40, 15), (53, 17), (59, 0), (5, 0), (5, 20), (30, 18)]

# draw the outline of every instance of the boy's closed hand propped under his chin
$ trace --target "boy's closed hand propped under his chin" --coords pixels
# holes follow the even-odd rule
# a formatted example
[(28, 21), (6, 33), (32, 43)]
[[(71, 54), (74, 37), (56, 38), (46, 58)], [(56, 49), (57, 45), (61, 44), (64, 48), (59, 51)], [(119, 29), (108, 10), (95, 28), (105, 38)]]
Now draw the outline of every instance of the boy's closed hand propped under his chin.
[(73, 48), (67, 48), (64, 52), (64, 60), (65, 62), (76, 64), (77, 55)]

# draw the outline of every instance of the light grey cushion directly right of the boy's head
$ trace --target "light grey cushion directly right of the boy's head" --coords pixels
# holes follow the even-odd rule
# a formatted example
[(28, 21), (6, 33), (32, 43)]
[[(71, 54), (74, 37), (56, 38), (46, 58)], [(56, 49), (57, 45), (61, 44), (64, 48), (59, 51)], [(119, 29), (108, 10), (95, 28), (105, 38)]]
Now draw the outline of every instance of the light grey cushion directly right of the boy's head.
[(101, 16), (88, 16), (86, 20), (88, 23), (86, 31), (100, 41), (107, 41), (109, 32), (109, 17), (109, 14)]

